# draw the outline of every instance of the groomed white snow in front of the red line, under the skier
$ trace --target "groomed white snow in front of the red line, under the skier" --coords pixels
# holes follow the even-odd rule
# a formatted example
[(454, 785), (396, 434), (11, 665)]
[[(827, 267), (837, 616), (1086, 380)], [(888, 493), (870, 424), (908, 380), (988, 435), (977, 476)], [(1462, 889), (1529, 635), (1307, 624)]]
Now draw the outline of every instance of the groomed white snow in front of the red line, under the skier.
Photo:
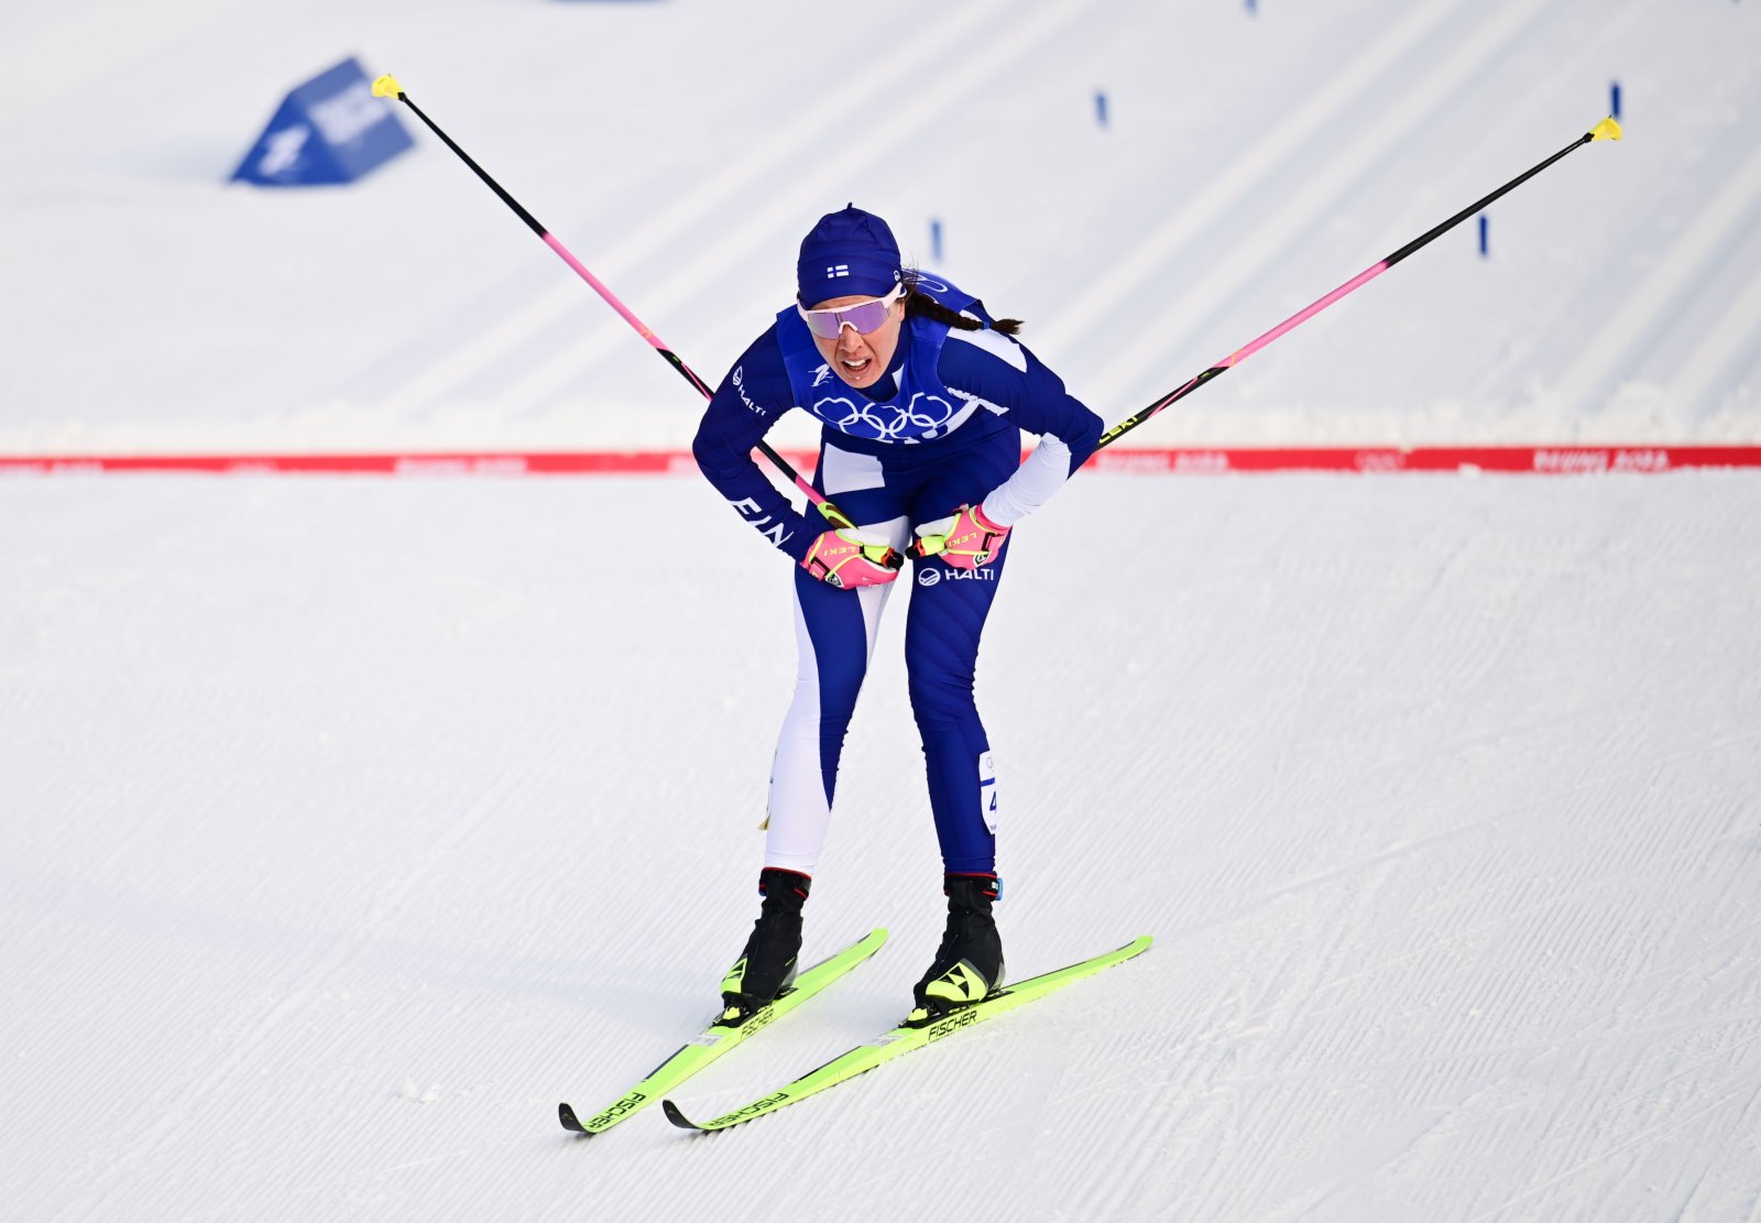
[[(1756, 1211), (1752, 474), (1085, 474), (981, 659), (1002, 929), (1021, 976), (1155, 948), (586, 1144), (556, 1101), (704, 1022), (755, 913), (782, 566), (689, 478), (4, 493), (14, 1218)], [(622, 543), (682, 516), (683, 569)], [(687, 1112), (933, 952), (896, 613), (807, 955), (893, 939)]]

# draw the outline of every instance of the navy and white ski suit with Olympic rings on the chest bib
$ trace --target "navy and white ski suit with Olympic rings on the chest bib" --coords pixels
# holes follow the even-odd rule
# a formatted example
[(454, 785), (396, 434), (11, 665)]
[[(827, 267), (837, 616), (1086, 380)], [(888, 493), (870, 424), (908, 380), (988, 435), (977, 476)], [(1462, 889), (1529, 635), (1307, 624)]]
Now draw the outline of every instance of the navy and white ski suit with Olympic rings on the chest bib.
[[(752, 449), (791, 407), (824, 423), (814, 486), (865, 537), (903, 548), (916, 525), (984, 504), (1013, 527), (1094, 453), (1101, 418), (984, 307), (921, 278), (917, 293), (984, 322), (963, 331), (907, 314), (891, 370), (873, 386), (844, 382), (814, 347), (794, 307), (734, 363), (715, 391), (692, 451), (734, 509), (796, 562), (829, 523), (799, 513)], [(1041, 442), (1021, 460), (1021, 434)], [(905, 670), (923, 738), (930, 809), (944, 871), (988, 874), (997, 862), (997, 774), (972, 700), (979, 636), (1009, 550), (979, 569), (937, 557), (914, 562), (905, 613)], [(831, 819), (844, 735), (856, 708), (888, 596), (898, 583), (840, 590), (796, 567), (799, 673), (770, 782), (764, 865), (812, 874)]]

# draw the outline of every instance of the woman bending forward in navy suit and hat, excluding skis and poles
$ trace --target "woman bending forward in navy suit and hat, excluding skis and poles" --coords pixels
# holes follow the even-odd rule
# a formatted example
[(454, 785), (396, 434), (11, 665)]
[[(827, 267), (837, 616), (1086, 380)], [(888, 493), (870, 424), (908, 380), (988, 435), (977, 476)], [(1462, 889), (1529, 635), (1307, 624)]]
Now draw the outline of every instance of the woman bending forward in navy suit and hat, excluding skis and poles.
[[(916, 530), (905, 613), (910, 707), (942, 849), (947, 930), (914, 989), (923, 1022), (1004, 980), (991, 918), (997, 775), (972, 701), (979, 636), (1011, 527), (1094, 453), (1101, 418), (972, 294), (905, 270), (888, 224), (856, 206), (801, 241), (796, 301), (715, 391), (692, 442), (729, 504), (794, 560), (799, 675), (770, 782), (759, 920), (722, 982), (738, 1024), (794, 980), (801, 906), (819, 862), (844, 733)], [(791, 407), (824, 425), (815, 488), (856, 530), (798, 513), (752, 460)], [(1021, 462), (1021, 434), (1041, 442)]]

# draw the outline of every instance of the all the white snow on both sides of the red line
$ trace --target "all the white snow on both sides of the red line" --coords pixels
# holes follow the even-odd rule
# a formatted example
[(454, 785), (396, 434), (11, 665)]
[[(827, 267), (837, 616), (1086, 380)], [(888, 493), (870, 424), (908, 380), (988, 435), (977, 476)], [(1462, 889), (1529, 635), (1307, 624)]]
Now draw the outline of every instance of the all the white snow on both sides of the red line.
[[(350, 53), (704, 377), (854, 199), (1108, 419), (1618, 79), (1627, 139), (1490, 257), (1462, 226), (1143, 441), (1754, 442), (1757, 7), (9, 4), (0, 453), (689, 442), (414, 116), (356, 187), (224, 183)], [(998, 915), (1018, 976), (1155, 948), (578, 1142), (556, 1101), (704, 1022), (755, 913), (787, 567), (685, 476), (0, 483), (0, 1216), (1761, 1218), (1757, 522), (1752, 472), (1085, 472), (981, 659)], [(900, 612), (805, 955), (893, 939), (687, 1112), (933, 950)]]

